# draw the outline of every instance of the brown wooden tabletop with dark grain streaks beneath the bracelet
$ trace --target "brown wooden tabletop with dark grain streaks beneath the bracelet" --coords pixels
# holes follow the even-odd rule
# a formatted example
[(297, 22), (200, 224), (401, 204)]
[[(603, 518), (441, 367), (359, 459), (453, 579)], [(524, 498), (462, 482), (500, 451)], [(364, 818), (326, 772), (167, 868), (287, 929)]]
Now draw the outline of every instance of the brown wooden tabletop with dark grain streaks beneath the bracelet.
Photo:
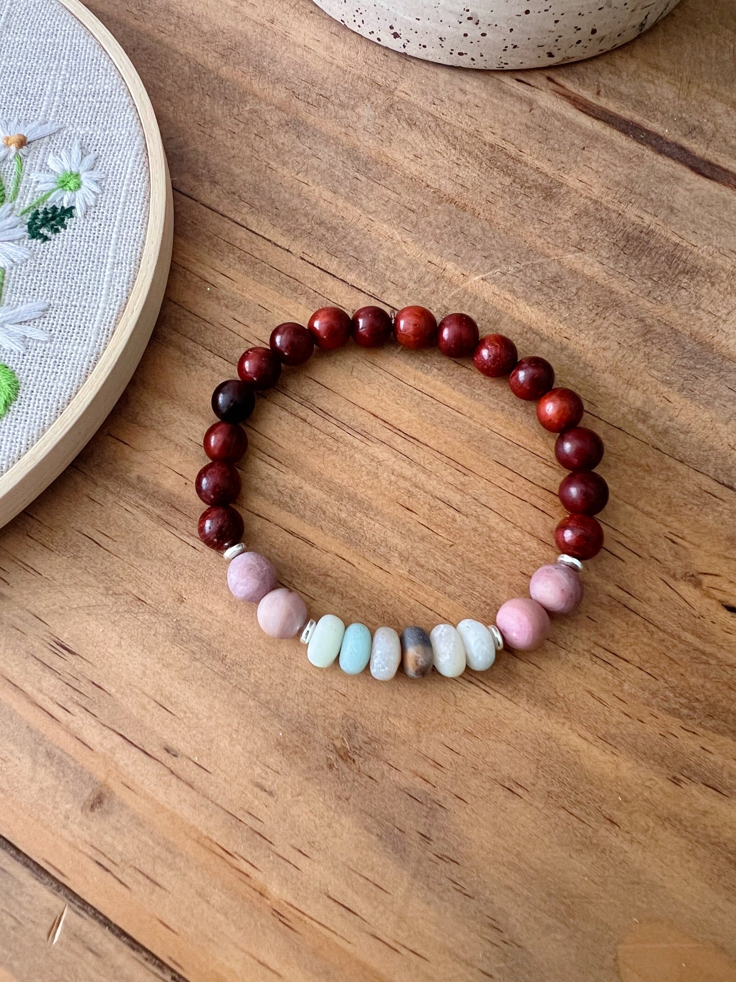
[[(174, 263), (124, 398), (0, 532), (0, 979), (733, 982), (733, 3), (507, 74), (308, 0), (91, 7)], [(605, 440), (582, 609), (487, 674), (319, 672), (196, 537), (213, 387), (375, 301), (550, 358)], [(350, 345), (250, 422), (246, 540), (316, 615), (491, 619), (555, 555), (552, 436), (467, 361)]]

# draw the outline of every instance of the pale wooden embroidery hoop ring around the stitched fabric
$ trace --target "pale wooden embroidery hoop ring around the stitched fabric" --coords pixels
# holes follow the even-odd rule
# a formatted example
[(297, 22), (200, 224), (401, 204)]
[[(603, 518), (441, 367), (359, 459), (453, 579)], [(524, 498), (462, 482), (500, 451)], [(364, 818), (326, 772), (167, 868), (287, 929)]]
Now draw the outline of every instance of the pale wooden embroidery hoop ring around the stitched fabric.
[(113, 35), (79, 0), (60, 0), (101, 45), (131, 93), (145, 137), (148, 224), (131, 293), (112, 337), (69, 405), (26, 454), (0, 476), (0, 527), (23, 511), (79, 454), (131, 380), (156, 322), (171, 265), (173, 202), (169, 169), (148, 93)]

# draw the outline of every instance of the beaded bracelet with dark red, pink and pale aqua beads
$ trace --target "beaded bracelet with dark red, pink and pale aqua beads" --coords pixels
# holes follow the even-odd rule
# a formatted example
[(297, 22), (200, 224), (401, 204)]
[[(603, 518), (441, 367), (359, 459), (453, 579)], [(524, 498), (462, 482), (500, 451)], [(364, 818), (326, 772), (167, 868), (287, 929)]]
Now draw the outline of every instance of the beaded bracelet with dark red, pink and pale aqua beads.
[[(429, 634), (422, 627), (405, 627), (401, 635), (393, 627), (379, 627), (371, 637), (368, 627), (345, 627), (340, 618), (327, 614), (319, 622), (309, 620), (303, 599), (278, 585), (276, 571), (265, 557), (247, 552), (244, 530), (233, 508), (240, 492), (235, 464), (248, 445), (240, 427), (255, 406), (255, 392), (276, 385), (283, 365), (303, 364), (315, 344), (325, 350), (340, 348), (348, 338), (362, 348), (378, 348), (392, 334), (404, 348), (438, 345), (443, 355), (472, 355), (476, 368), (490, 378), (508, 376), (511, 392), (519, 399), (537, 402), (537, 418), (545, 429), (559, 434), (554, 444), (557, 462), (571, 471), (559, 485), (559, 500), (569, 513), (557, 525), (554, 541), (561, 555), (556, 563), (532, 575), (529, 597), (507, 600), (496, 615), (496, 624), (461, 621), (457, 627), (441, 624)], [(238, 600), (257, 604), (258, 624), (272, 637), (300, 634), (307, 658), (327, 668), (340, 657), (340, 667), (357, 675), (370, 664), (374, 679), (392, 679), (399, 665), (410, 679), (421, 679), (432, 667), (454, 678), (465, 668), (489, 669), (497, 652), (507, 645), (527, 651), (538, 647), (550, 630), (550, 614), (568, 614), (579, 605), (582, 560), (596, 556), (604, 533), (593, 518), (608, 500), (608, 487), (594, 468), (604, 455), (601, 437), (578, 425), (583, 403), (570, 389), (554, 389), (554, 371), (541, 357), (518, 360), (512, 341), (500, 334), (480, 338), (478, 325), (464, 313), (451, 313), (438, 326), (434, 315), (421, 306), (407, 306), (392, 320), (386, 310), (361, 307), (352, 317), (338, 307), (322, 307), (309, 318), (307, 327), (280, 324), (269, 348), (249, 348), (237, 362), (239, 378), (222, 382), (212, 395), (212, 409), (219, 422), (204, 435), (204, 451), (210, 459), (196, 477), (196, 492), (209, 507), (199, 518), (199, 537), (229, 562), (228, 585)]]

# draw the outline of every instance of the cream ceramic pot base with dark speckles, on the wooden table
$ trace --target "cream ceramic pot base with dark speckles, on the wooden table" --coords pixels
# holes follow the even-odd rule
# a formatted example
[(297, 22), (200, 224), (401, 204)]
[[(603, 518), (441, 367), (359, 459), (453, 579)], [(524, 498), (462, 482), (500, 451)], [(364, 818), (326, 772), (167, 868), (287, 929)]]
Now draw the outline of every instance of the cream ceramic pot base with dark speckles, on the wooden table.
[(462, 68), (592, 58), (657, 24), (678, 0), (315, 0), (364, 37)]

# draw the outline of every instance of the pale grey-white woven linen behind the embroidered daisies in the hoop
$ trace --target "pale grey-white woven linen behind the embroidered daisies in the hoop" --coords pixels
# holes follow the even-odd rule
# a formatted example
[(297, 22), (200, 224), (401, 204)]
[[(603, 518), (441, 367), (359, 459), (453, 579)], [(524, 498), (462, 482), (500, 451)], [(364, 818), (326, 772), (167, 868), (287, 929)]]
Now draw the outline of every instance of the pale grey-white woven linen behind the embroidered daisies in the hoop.
[[(0, 418), (0, 474), (23, 457), (65, 409), (109, 342), (138, 268), (148, 220), (145, 139), (130, 92), (95, 38), (57, 0), (0, 0), (0, 120), (56, 123), (26, 147), (17, 211), (39, 194), (31, 175), (50, 154), (79, 142), (103, 178), (94, 203), (77, 209), (49, 242), (6, 271), (2, 306), (45, 301), (32, 321), (48, 341), (0, 349), (21, 391)], [(7, 162), (3, 164), (8, 185)], [(50, 203), (50, 202), (49, 202)], [(61, 202), (59, 202), (61, 203)], [(26, 216), (27, 217), (27, 216)]]

